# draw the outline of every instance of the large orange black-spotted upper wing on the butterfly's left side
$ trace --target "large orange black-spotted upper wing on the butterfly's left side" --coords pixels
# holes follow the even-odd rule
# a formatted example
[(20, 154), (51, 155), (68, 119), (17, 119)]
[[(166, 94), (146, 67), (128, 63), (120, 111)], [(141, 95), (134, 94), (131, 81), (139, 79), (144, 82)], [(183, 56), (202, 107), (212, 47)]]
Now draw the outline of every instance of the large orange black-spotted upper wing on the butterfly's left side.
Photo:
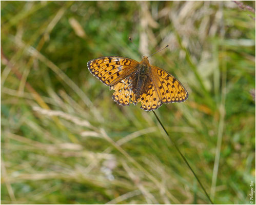
[(112, 86), (136, 71), (139, 62), (127, 57), (104, 56), (87, 63), (89, 71), (107, 86)]

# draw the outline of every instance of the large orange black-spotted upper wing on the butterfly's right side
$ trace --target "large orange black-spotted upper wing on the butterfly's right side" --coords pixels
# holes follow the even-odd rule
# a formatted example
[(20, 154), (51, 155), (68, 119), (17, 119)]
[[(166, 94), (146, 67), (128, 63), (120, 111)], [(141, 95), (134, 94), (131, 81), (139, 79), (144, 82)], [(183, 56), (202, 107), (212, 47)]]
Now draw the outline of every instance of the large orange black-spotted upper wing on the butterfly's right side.
[(162, 68), (151, 66), (151, 80), (162, 103), (181, 103), (188, 92), (181, 82)]

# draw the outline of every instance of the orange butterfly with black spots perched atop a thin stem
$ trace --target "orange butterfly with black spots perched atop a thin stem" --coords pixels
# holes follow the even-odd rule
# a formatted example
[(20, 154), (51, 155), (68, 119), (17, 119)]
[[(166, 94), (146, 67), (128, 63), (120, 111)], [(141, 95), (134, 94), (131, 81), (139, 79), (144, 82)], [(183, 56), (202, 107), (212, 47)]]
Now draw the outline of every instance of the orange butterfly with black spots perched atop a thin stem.
[(122, 106), (136, 105), (156, 110), (163, 103), (183, 102), (188, 92), (173, 75), (151, 66), (147, 56), (141, 62), (127, 57), (104, 56), (87, 63), (89, 71), (115, 92), (113, 100)]

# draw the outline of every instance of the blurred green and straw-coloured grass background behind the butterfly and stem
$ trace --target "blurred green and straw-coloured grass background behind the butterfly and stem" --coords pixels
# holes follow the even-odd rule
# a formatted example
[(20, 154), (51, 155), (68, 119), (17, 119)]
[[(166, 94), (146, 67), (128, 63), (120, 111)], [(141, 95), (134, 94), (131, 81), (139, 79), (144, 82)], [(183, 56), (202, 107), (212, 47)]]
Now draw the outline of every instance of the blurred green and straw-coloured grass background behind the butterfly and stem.
[(140, 61), (131, 37), (144, 55), (170, 45), (150, 63), (189, 98), (156, 113), (212, 200), (250, 203), (253, 8), (2, 1), (1, 202), (209, 203), (153, 113), (117, 105), (88, 71), (87, 61), (105, 55)]

